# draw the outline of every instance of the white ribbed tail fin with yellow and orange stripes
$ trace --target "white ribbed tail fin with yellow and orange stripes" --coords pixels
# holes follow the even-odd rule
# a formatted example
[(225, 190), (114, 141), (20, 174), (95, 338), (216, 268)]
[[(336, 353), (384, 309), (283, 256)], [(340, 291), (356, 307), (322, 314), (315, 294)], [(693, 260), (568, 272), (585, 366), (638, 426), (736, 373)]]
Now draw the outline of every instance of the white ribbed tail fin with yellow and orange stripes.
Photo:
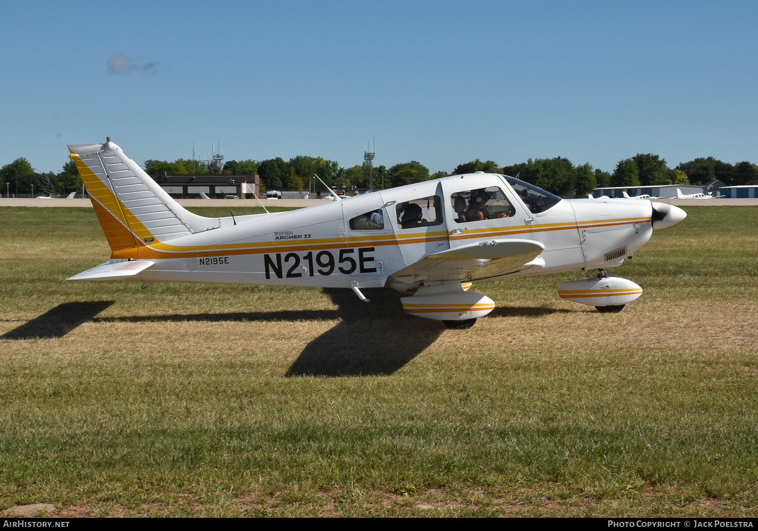
[(218, 227), (187, 211), (111, 142), (69, 145), (111, 251), (167, 242)]

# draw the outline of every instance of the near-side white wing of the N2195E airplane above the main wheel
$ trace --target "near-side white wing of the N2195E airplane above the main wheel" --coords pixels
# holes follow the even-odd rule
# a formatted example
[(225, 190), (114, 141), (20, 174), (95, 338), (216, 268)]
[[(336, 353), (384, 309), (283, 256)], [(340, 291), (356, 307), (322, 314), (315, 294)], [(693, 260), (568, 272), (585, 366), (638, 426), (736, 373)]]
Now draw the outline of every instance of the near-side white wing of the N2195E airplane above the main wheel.
[(531, 239), (490, 239), (428, 255), (390, 276), (390, 283), (483, 280), (538, 265), (544, 245)]

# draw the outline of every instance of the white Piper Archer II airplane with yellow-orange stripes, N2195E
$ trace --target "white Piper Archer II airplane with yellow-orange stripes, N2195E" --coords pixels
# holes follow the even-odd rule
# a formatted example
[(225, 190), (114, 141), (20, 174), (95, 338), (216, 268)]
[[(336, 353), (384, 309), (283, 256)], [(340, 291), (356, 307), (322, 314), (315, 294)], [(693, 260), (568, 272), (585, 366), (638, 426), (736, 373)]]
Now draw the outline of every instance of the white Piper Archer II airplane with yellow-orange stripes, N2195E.
[(69, 145), (111, 259), (68, 280), (391, 287), (408, 314), (471, 326), (495, 307), (472, 282), (597, 270), (559, 295), (619, 311), (640, 296), (607, 276), (681, 208), (562, 199), (495, 173), (468, 173), (295, 211), (202, 217), (182, 208), (108, 138)]

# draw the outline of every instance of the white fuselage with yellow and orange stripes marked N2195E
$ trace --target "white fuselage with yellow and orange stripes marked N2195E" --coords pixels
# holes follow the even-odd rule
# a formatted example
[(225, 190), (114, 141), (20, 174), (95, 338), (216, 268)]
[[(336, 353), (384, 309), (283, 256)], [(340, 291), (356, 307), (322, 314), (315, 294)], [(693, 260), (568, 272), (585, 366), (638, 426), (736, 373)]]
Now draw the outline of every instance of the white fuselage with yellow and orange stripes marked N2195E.
[[(490, 204), (506, 205), (503, 217), (469, 220), (456, 211), (456, 197), (470, 201), (480, 189), (494, 191)], [(372, 287), (428, 255), (487, 239), (544, 245), (543, 264), (506, 276), (618, 265), (650, 239), (650, 201), (565, 200), (534, 190), (497, 174), (453, 176), (236, 224), (224, 218), (218, 228), (114, 251), (111, 259), (155, 261), (134, 279), (143, 282)], [(412, 203), (417, 220), (407, 219)]]

